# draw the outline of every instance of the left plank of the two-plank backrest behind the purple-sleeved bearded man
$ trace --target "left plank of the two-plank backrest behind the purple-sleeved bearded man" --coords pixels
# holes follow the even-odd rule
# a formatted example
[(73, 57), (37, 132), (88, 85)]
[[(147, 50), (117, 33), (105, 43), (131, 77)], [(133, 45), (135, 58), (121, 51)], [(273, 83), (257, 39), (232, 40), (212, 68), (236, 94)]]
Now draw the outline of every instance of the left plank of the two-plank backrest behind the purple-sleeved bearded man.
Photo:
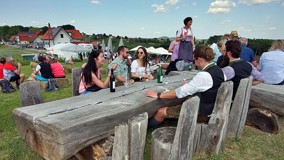
[(240, 123), (240, 117), (243, 111), (243, 104), (246, 96), (246, 87), (248, 84), (248, 78), (240, 80), (239, 87), (236, 92), (234, 102), (230, 109), (227, 135), (228, 138), (236, 138), (237, 130)]

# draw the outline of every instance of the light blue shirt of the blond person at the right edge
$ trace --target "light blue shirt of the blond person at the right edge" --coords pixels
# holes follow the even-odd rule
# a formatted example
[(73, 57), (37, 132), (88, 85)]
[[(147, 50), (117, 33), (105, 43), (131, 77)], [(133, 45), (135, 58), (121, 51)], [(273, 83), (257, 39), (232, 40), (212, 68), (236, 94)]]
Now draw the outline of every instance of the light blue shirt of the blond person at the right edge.
[(282, 82), (284, 80), (284, 52), (279, 49), (264, 52), (260, 57), (258, 69), (264, 75), (264, 83)]

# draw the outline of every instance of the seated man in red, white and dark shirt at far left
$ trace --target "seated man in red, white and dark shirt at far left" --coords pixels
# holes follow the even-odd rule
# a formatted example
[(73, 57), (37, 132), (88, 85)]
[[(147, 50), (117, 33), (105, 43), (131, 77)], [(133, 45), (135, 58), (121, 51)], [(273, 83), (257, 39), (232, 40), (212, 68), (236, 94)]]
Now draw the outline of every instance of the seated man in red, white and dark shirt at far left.
[(21, 74), (21, 63), (17, 63), (16, 68), (13, 66), (15, 60), (12, 57), (7, 58), (7, 63), (3, 68), (4, 78), (9, 82), (17, 81), (17, 86), (24, 82), (25, 75)]

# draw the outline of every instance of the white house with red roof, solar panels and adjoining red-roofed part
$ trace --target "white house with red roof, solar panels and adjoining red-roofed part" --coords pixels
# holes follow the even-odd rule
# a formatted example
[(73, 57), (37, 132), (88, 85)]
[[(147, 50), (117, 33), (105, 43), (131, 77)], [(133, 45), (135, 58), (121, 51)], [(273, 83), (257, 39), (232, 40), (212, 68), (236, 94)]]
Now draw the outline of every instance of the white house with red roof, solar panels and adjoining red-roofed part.
[(63, 29), (62, 27), (47, 30), (41, 37), (46, 48), (59, 43), (71, 43), (83, 39), (79, 30)]

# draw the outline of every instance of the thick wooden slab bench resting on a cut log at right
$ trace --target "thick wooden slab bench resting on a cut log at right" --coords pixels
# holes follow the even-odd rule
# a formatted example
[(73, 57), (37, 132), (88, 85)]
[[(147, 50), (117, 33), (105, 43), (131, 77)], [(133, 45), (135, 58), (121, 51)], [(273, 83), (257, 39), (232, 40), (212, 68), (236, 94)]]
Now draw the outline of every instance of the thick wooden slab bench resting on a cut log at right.
[(252, 86), (247, 125), (276, 133), (284, 123), (284, 85), (260, 83)]

